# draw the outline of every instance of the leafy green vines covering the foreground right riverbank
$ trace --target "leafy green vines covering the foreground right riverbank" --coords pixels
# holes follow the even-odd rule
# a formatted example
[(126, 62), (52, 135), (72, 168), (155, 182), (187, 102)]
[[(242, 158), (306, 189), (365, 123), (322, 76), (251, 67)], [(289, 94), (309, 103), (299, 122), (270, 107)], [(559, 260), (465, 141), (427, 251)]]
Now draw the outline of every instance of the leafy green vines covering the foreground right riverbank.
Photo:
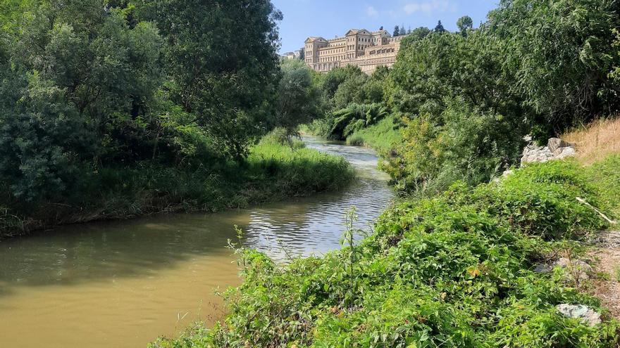
[[(564, 160), (473, 190), (457, 183), (390, 208), (359, 244), (286, 267), (242, 250), (245, 281), (228, 292), (225, 321), (152, 347), (615, 347), (619, 323), (588, 283), (570, 268), (535, 271), (578, 259), (581, 241), (609, 227), (576, 200), (617, 208), (605, 200), (610, 178), (593, 172)], [(564, 316), (562, 304), (602, 323)]]

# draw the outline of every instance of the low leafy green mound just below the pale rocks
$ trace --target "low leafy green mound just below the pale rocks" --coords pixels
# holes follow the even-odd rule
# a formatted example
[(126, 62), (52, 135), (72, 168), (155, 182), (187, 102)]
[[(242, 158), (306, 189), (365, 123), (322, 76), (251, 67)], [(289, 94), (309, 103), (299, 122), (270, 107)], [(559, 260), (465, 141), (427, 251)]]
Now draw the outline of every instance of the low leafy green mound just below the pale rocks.
[(480, 186), (469, 202), (523, 233), (559, 240), (607, 227), (595, 210), (576, 199), (600, 206), (598, 197), (576, 162), (552, 161), (519, 169), (497, 186)]

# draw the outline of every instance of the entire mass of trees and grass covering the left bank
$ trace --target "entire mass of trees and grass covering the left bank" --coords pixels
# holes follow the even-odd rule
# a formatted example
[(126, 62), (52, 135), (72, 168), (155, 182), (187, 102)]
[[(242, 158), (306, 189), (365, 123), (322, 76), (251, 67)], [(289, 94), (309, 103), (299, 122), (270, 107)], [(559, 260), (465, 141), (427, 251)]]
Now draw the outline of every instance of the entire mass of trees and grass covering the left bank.
[(268, 0), (3, 1), (0, 233), (344, 186), (342, 159), (254, 146), (323, 108), (318, 77), (278, 63), (280, 19)]

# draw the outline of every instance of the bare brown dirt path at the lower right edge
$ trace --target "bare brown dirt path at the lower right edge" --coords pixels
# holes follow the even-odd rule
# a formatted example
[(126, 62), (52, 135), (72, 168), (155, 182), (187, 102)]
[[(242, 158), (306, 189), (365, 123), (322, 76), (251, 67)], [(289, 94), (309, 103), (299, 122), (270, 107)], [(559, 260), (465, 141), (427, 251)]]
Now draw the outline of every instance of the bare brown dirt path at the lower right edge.
[(597, 236), (589, 257), (594, 259), (593, 295), (601, 299), (614, 318), (620, 320), (620, 231)]

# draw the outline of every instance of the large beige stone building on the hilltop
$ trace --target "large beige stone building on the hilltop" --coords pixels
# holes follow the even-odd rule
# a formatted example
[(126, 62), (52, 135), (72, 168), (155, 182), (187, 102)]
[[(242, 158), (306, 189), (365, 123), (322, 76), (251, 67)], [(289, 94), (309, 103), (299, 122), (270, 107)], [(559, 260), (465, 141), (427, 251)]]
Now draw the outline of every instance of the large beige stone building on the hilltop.
[(352, 29), (344, 37), (306, 39), (306, 63), (318, 72), (328, 72), (335, 67), (359, 66), (371, 74), (379, 65), (392, 67), (405, 36), (392, 37), (387, 30), (369, 32)]

